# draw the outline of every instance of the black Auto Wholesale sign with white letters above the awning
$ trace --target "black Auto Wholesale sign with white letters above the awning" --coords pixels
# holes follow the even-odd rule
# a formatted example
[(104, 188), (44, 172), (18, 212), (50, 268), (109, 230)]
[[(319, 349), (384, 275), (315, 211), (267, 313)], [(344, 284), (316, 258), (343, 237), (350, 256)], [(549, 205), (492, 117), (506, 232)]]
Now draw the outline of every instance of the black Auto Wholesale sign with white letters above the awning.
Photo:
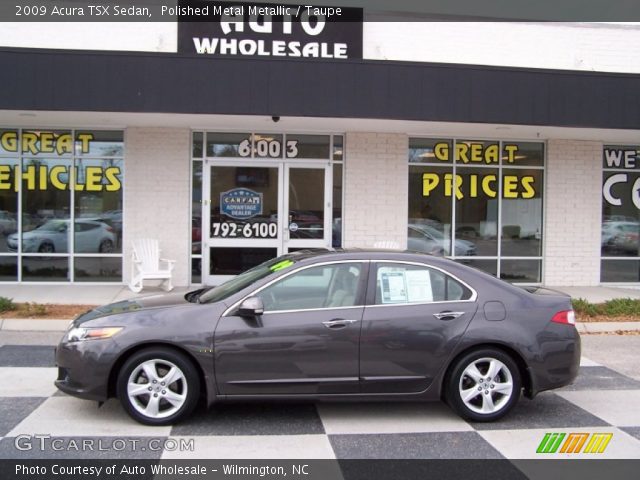
[(178, 52), (215, 57), (362, 58), (362, 9), (183, 0)]

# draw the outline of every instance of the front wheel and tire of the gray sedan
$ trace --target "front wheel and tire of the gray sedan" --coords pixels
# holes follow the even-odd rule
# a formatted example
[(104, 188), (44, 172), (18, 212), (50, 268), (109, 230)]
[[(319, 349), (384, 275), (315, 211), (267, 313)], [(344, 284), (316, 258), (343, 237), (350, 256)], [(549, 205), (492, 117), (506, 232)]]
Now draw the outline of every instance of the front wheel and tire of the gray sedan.
[[(167, 384), (163, 384), (165, 379)], [(195, 408), (200, 377), (184, 354), (169, 348), (148, 348), (129, 357), (118, 372), (117, 395), (134, 420), (145, 425), (171, 425)]]

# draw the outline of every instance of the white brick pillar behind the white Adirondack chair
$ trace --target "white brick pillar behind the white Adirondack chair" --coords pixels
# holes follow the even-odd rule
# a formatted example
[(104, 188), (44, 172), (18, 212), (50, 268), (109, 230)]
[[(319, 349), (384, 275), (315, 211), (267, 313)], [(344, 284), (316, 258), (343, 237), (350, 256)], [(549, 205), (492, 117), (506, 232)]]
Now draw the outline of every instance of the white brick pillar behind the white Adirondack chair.
[(174, 285), (189, 284), (189, 133), (170, 128), (125, 131), (125, 282), (131, 276), (131, 242), (145, 237), (159, 239), (162, 257), (176, 260)]

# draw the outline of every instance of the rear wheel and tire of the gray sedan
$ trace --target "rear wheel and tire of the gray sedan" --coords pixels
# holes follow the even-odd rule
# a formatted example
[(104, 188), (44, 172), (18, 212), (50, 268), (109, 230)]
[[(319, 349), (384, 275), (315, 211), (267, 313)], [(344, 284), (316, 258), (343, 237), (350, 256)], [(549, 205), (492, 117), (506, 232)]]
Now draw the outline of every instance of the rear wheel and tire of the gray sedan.
[[(487, 375), (490, 369), (493, 375)], [(445, 396), (451, 408), (474, 422), (504, 417), (518, 402), (521, 389), (518, 365), (494, 348), (474, 350), (460, 358), (451, 366), (445, 381)]]

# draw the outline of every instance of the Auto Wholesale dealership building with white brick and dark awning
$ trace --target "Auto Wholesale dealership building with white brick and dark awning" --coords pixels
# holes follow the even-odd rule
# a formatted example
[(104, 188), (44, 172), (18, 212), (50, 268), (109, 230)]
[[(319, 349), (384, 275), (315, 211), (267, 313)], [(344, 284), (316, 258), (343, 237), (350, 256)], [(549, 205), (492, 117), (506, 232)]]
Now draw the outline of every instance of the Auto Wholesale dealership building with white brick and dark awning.
[(2, 24), (0, 282), (154, 238), (178, 286), (379, 245), (640, 285), (640, 25), (229, 13)]

